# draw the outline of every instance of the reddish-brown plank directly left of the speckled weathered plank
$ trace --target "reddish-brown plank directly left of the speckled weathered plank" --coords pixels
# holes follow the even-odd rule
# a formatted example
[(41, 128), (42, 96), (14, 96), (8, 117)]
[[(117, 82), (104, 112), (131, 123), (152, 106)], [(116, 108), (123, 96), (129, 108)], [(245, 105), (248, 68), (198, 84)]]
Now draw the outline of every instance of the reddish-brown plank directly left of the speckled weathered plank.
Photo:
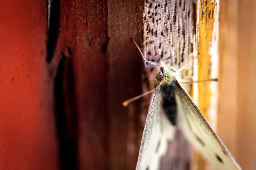
[[(108, 0), (108, 101), (110, 124), (110, 169), (134, 170), (140, 148), (140, 100), (123, 108), (122, 102), (140, 95), (142, 58), (130, 37), (142, 41), (140, 0)], [(141, 134), (140, 134), (141, 136)]]

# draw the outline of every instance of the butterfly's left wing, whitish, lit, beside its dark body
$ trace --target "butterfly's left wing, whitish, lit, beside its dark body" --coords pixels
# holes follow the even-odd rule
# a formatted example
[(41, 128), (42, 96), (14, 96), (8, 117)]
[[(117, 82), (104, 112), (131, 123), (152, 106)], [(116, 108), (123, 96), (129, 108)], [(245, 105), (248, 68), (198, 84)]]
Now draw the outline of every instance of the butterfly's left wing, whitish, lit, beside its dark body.
[(143, 130), (136, 170), (158, 170), (160, 158), (167, 150), (167, 141), (174, 138), (175, 127), (169, 123), (163, 112), (161, 100), (160, 93), (154, 89)]

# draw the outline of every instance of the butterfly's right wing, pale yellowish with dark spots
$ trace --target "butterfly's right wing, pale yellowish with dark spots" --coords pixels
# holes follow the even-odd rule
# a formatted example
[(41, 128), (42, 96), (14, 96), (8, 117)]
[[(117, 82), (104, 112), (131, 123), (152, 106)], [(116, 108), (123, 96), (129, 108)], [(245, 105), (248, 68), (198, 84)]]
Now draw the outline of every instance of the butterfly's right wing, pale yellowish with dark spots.
[(186, 139), (218, 170), (241, 170), (227, 147), (186, 91), (177, 84), (177, 124)]

